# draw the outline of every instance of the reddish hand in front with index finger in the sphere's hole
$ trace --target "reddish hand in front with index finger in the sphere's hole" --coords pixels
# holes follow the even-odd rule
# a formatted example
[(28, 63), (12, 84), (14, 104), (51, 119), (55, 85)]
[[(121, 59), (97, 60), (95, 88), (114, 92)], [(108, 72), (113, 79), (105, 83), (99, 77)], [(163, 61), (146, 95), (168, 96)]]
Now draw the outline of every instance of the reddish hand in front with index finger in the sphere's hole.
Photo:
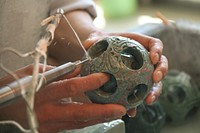
[[(25, 67), (17, 73), (21, 76), (29, 75), (32, 73), (32, 66)], [(82, 103), (70, 99), (85, 91), (99, 88), (109, 80), (108, 75), (95, 73), (85, 77), (72, 78), (69, 76), (68, 78), (48, 84), (36, 93), (35, 112), (40, 132), (51, 133), (64, 129), (77, 129), (118, 119), (125, 115), (126, 110), (121, 105)], [(62, 100), (63, 98), (65, 100)], [(0, 108), (0, 111), (1, 120), (15, 120), (28, 128), (22, 99)]]

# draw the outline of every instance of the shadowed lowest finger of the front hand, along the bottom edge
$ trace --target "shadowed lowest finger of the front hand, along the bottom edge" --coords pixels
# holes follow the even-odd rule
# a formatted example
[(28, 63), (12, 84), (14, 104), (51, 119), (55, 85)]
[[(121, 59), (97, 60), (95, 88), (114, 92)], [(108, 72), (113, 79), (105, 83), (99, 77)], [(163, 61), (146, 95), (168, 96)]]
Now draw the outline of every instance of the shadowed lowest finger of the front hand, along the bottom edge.
[[(118, 119), (118, 118), (115, 118)], [(86, 126), (95, 125), (98, 123), (109, 122), (115, 119), (99, 119), (99, 120), (91, 120), (91, 121), (68, 121), (68, 122), (57, 122), (57, 123), (42, 123), (40, 127), (40, 132), (48, 132), (48, 133), (56, 133), (63, 130), (70, 130), (70, 129), (80, 129)]]

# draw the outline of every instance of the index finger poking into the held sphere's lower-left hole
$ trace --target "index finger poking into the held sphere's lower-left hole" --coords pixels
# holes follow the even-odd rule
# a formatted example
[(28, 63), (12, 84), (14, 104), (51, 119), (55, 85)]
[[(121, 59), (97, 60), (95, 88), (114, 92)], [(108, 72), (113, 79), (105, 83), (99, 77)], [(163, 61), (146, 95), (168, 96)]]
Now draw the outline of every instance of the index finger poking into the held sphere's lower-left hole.
[(75, 96), (85, 91), (97, 89), (108, 80), (109, 76), (107, 74), (94, 73), (85, 77), (76, 77), (53, 82), (39, 92), (37, 95), (38, 102)]

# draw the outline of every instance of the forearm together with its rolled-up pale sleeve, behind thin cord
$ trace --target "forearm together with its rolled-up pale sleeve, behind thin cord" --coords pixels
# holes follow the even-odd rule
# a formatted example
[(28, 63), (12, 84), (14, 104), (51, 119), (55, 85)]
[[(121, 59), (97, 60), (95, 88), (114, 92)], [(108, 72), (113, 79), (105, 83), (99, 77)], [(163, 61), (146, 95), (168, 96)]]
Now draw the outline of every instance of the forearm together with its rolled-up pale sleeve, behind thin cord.
[[(97, 28), (93, 25), (93, 19), (97, 16), (93, 0), (59, 0), (59, 2), (51, 0), (50, 13), (55, 14), (58, 8), (64, 10), (65, 16), (82, 43), (91, 32), (97, 31)], [(77, 38), (64, 18), (62, 18), (56, 30), (55, 41), (48, 51), (50, 59), (56, 60), (56, 64), (75, 61), (82, 58), (84, 54)]]

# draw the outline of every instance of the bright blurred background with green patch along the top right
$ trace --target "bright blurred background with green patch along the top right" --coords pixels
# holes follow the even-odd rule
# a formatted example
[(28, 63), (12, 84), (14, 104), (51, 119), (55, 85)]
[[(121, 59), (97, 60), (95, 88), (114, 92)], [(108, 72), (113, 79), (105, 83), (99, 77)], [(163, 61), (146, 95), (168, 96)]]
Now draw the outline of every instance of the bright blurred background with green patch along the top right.
[(111, 32), (129, 31), (139, 25), (161, 23), (160, 12), (169, 20), (186, 19), (200, 23), (200, 0), (95, 0), (95, 25)]

